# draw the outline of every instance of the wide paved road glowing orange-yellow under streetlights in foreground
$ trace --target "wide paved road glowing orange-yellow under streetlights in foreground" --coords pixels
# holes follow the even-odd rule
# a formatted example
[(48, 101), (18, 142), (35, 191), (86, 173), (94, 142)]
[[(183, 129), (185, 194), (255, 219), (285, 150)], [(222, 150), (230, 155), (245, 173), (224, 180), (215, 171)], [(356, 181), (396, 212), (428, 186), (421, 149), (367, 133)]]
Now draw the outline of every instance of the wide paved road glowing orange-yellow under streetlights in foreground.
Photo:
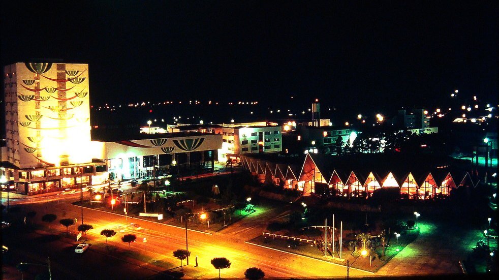
[[(39, 217), (49, 212), (57, 214), (58, 220), (63, 217), (80, 216), (80, 208), (71, 204), (52, 202), (30, 206), (37, 210)], [(130, 223), (130, 220), (125, 221), (122, 216), (92, 209), (84, 209), (84, 219), (85, 224), (91, 224), (94, 227), (88, 232), (90, 243), (105, 242), (105, 238), (99, 235), (102, 229), (115, 226), (124, 227)], [(137, 231), (123, 229), (124, 232), (119, 232), (115, 237), (109, 239), (110, 245), (119, 248), (119, 250), (140, 252), (154, 260), (164, 262), (165, 266), (169, 268), (179, 265), (179, 261), (173, 258), (172, 252), (178, 248), (185, 248), (184, 229), (143, 220), (138, 222), (137, 219), (132, 221), (139, 223), (142, 228)], [(60, 225), (58, 228), (60, 231), (64, 231)], [(120, 240), (120, 237), (126, 233), (137, 235), (138, 242), (132, 244), (130, 249), (128, 249), (128, 244), (124, 244)], [(346, 268), (342, 266), (249, 245), (225, 235), (207, 235), (192, 231), (189, 231), (188, 235), (189, 251), (192, 252), (192, 256), (198, 256), (199, 267), (192, 275), (195, 278), (218, 277), (218, 272), (213, 269), (210, 263), (214, 257), (225, 257), (231, 261), (230, 269), (222, 270), (223, 277), (230, 278), (244, 278), (244, 271), (248, 267), (259, 267), (265, 271), (268, 277), (331, 277), (346, 274)], [(147, 238), (145, 250), (141, 242), (144, 237)], [(190, 265), (193, 265), (193, 257), (191, 257)], [(352, 276), (370, 275), (355, 269), (351, 269), (350, 274)]]

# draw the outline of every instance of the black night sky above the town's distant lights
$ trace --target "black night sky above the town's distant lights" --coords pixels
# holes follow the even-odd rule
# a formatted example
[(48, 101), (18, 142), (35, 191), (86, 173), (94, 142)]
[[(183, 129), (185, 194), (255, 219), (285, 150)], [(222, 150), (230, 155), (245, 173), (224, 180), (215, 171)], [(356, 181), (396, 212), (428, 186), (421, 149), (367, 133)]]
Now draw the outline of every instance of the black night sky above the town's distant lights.
[(294, 96), (395, 110), (456, 88), (497, 95), (497, 2), (269, 2), (7, 1), (2, 65), (88, 63), (97, 106)]

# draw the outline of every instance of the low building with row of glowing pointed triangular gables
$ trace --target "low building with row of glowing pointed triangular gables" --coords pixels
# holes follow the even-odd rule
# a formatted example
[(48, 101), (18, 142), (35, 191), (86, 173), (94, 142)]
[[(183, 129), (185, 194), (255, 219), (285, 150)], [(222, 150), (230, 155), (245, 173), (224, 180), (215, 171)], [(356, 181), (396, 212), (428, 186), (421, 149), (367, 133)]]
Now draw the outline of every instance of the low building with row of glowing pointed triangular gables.
[[(449, 196), (458, 188), (475, 188), (470, 173), (438, 166), (429, 155), (394, 158), (394, 155), (363, 154), (362, 157), (332, 157), (307, 153), (304, 158), (241, 155), (242, 166), (261, 183), (296, 189), (303, 195), (333, 195), (369, 198), (378, 190), (402, 199), (435, 199)], [(427, 161), (433, 163), (428, 165)], [(392, 165), (390, 171), (387, 164)]]

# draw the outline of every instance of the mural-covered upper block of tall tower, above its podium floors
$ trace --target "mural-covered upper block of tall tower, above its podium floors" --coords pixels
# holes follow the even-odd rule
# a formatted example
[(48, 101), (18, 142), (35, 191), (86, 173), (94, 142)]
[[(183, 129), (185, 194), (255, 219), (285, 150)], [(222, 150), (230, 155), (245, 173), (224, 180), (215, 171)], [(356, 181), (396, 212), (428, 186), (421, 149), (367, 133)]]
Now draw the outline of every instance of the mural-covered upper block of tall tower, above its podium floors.
[(88, 65), (6, 66), (8, 161), (20, 168), (91, 162)]

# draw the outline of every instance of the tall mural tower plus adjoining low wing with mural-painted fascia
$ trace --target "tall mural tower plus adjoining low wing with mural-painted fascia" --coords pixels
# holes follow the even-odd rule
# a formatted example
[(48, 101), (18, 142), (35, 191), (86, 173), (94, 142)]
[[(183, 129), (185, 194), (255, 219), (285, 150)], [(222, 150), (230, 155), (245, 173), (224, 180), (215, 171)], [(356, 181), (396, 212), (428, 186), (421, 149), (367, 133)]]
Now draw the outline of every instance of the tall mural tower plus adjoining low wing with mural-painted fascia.
[(171, 166), (176, 174), (213, 169), (221, 135), (91, 128), (86, 64), (16, 63), (4, 73), (1, 171), (20, 194), (101, 184), (110, 172), (122, 180), (171, 173)]

